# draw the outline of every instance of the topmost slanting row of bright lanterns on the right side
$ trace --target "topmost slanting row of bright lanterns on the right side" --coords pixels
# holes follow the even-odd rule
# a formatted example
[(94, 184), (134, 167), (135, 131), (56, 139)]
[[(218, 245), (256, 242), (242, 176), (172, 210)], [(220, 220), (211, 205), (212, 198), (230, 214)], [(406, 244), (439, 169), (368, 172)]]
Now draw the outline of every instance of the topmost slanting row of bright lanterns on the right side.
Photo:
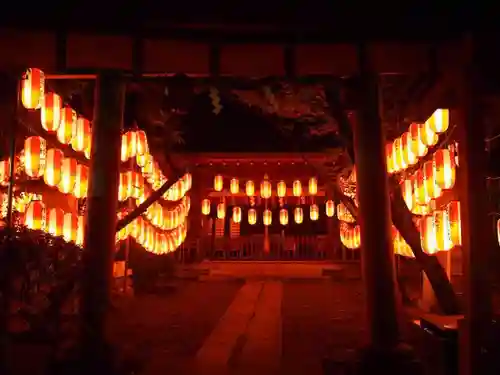
[(412, 123), (408, 131), (386, 146), (387, 171), (397, 173), (415, 165), (438, 142), (450, 124), (448, 109), (437, 109), (423, 124)]

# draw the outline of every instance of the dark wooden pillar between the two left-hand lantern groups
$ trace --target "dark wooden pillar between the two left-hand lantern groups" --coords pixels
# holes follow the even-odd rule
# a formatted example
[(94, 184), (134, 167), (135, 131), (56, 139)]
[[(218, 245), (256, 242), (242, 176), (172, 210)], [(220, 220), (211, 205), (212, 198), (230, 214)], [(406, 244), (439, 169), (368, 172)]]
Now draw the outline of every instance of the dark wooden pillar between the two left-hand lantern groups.
[(81, 339), (83, 363), (102, 373), (109, 373), (105, 372), (105, 324), (115, 252), (124, 94), (120, 72), (98, 74), (84, 237)]

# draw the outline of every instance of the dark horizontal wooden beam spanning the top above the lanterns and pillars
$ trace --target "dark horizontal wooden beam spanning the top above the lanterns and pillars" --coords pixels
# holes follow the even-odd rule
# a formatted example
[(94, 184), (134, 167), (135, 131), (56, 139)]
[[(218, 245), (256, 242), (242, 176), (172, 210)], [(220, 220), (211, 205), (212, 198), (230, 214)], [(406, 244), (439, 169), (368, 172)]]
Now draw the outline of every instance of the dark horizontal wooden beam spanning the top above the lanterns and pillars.
[[(47, 73), (75, 70), (120, 69), (132, 72), (141, 61), (141, 73), (186, 73), (210, 76), (212, 44), (167, 38), (140, 38), (130, 35), (0, 30), (0, 69), (39, 67)], [(62, 48), (61, 42), (65, 42)], [(291, 48), (291, 50), (290, 50)], [(428, 46), (419, 43), (372, 43), (368, 53), (379, 74), (418, 74), (428, 69)], [(357, 69), (355, 48), (351, 44), (253, 43), (220, 44), (217, 49), (221, 75), (240, 77), (284, 77), (288, 70), (285, 55), (293, 56), (295, 74), (352, 75)], [(16, 53), (12, 53), (16, 51)], [(57, 56), (65, 51), (65, 58)], [(264, 52), (263, 52), (264, 51)], [(286, 52), (289, 51), (289, 52)], [(291, 54), (290, 54), (291, 51)], [(136, 56), (141, 54), (142, 56)], [(398, 56), (394, 59), (394, 56)], [(334, 63), (330, 63), (334, 61)], [(66, 67), (58, 66), (61, 62)], [(65, 68), (61, 71), (61, 68)], [(137, 72), (136, 72), (137, 73)], [(292, 72), (289, 72), (292, 73)]]

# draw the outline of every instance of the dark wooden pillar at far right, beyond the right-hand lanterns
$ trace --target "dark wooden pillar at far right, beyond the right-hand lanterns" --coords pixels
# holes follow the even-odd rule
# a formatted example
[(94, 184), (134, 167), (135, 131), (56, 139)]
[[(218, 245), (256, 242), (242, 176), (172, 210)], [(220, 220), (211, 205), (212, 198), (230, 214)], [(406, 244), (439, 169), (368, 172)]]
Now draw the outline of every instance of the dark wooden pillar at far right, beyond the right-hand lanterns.
[(473, 40), (468, 37), (464, 43), (462, 71), (457, 77), (460, 107), (456, 113), (464, 275), (465, 319), (460, 338), (460, 374), (463, 375), (488, 373), (488, 364), (482, 355), (491, 325), (488, 254), (497, 250), (495, 233), (488, 219), (487, 155), (474, 53)]

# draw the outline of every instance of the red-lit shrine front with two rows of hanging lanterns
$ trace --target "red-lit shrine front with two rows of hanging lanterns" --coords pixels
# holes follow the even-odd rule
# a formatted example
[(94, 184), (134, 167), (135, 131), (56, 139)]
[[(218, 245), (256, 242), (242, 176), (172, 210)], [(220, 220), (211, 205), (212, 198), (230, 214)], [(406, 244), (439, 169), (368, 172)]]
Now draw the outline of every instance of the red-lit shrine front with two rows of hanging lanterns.
[(199, 214), (192, 215), (185, 253), (196, 247), (203, 259), (231, 261), (359, 259), (335, 236), (343, 205), (330, 186), (339, 172), (333, 169), (334, 157), (255, 153), (193, 158), (194, 181), (200, 184), (193, 210)]

